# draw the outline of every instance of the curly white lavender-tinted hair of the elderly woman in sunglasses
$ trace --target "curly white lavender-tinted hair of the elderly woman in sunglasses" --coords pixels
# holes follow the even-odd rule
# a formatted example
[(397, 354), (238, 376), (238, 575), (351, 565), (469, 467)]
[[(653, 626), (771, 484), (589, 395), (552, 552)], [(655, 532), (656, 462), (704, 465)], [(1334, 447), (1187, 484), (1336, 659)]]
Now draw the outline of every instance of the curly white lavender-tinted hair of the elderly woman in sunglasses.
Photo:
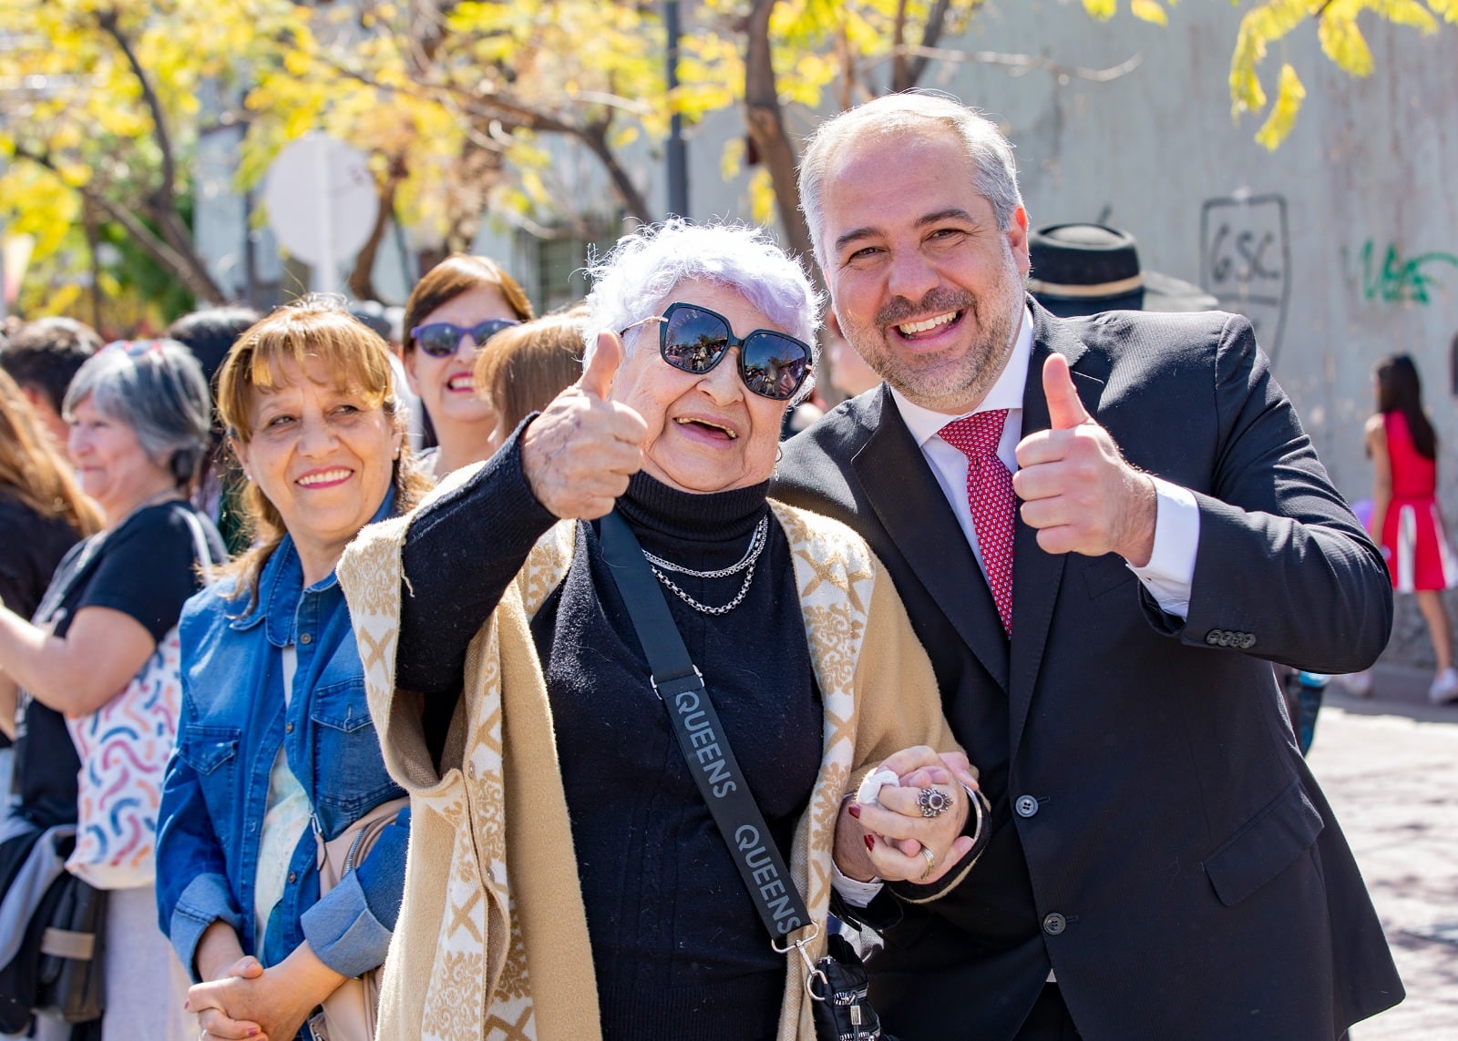
[[(812, 360), (819, 360), (815, 331), (821, 296), (805, 268), (758, 227), (691, 225), (671, 217), (624, 236), (607, 257), (590, 258), (588, 274), (592, 292), (586, 299), (583, 340), (589, 354), (598, 332), (620, 332), (652, 318), (679, 283), (703, 280), (739, 293), (770, 322), (809, 344)], [(749, 330), (735, 330), (741, 337), (745, 332)], [(658, 335), (652, 327), (633, 330), (624, 337), (624, 350), (631, 354), (650, 335)], [(812, 372), (793, 401), (808, 397), (814, 385)]]

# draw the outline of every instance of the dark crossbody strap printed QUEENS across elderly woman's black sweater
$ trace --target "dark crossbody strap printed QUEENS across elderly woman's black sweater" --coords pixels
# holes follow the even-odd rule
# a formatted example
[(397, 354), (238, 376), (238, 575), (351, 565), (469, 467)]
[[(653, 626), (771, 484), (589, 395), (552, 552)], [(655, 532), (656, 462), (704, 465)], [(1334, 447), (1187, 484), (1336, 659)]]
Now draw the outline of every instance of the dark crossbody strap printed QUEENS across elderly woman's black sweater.
[[(688, 656), (637, 537), (627, 520), (612, 512), (601, 520), (599, 542), (602, 558), (643, 644), (653, 674), (653, 691), (668, 709), (678, 746), (688, 760), (688, 771), (723, 833), (765, 930), (771, 937), (781, 937), (811, 924), (811, 913), (749, 793), (704, 688), (704, 678)], [(787, 948), (776, 946), (776, 951), (786, 952)]]

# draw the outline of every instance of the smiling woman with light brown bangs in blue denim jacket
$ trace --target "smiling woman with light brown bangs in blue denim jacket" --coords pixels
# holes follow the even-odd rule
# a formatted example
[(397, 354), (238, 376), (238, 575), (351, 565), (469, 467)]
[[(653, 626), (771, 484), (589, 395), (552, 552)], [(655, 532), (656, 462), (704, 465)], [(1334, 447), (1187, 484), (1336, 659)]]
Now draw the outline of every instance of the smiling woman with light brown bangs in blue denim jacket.
[(295, 1037), (383, 962), (410, 811), (319, 897), (322, 843), (404, 793), (364, 703), (334, 564), (427, 481), (401, 453), (388, 347), (337, 305), (276, 311), (233, 346), (219, 413), (254, 547), (181, 621), (182, 717), (157, 838), (162, 929), (204, 1037)]

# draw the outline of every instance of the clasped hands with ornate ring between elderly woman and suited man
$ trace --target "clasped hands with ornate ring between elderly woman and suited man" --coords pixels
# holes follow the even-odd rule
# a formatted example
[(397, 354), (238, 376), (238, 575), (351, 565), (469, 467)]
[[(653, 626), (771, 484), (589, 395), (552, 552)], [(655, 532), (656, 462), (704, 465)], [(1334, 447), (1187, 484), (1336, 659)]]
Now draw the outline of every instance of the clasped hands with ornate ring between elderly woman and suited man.
[[(961, 752), (937, 754), (919, 745), (886, 757), (876, 770), (895, 773), (900, 786), (882, 786), (879, 805), (846, 799), (835, 824), (835, 865), (847, 878), (863, 882), (940, 881), (972, 849), (972, 838), (962, 834), (971, 812), (965, 789), (977, 790), (971, 764)], [(926, 816), (921, 789), (951, 796), (951, 805)]]

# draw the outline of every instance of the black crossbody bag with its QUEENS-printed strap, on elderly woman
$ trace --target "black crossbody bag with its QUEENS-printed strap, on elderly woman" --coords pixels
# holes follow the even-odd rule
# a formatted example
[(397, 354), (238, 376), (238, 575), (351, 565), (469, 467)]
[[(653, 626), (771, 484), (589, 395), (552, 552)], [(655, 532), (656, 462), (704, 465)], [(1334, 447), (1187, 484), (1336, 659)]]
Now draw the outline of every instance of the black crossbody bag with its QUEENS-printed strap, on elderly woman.
[[(805, 945), (819, 935), (818, 926), (800, 940), (789, 939), (795, 930), (815, 923), (795, 888), (779, 847), (770, 838), (760, 806), (749, 795), (749, 786), (704, 688), (704, 678), (688, 656), (678, 625), (668, 611), (663, 590), (643, 558), (637, 537), (617, 512), (602, 518), (599, 541), (602, 558), (623, 595), (653, 674), (653, 693), (668, 709), (684, 757), (698, 767), (690, 773), (709, 803), (714, 824), (723, 833), (739, 876), (770, 933), (770, 946), (786, 956), (798, 952), (805, 959), (805, 991), (811, 997), (816, 1040), (895, 1041), (881, 1029), (881, 1019), (868, 1000), (866, 967), (844, 936), (830, 935), (827, 954), (814, 961), (805, 952)], [(704, 754), (710, 748), (717, 749), (720, 758), (706, 763)]]

